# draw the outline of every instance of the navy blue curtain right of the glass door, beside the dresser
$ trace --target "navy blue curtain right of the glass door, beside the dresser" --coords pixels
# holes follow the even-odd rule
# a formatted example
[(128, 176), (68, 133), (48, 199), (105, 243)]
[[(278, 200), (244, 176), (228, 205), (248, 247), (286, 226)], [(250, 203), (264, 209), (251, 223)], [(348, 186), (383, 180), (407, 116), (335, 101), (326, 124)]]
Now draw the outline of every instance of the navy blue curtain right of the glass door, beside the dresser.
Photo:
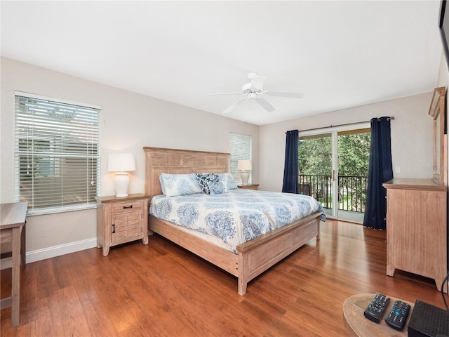
[(391, 164), (390, 118), (373, 118), (371, 119), (368, 191), (363, 218), (365, 227), (377, 230), (387, 228), (387, 190), (382, 184), (391, 179), (393, 179), (393, 164)]

